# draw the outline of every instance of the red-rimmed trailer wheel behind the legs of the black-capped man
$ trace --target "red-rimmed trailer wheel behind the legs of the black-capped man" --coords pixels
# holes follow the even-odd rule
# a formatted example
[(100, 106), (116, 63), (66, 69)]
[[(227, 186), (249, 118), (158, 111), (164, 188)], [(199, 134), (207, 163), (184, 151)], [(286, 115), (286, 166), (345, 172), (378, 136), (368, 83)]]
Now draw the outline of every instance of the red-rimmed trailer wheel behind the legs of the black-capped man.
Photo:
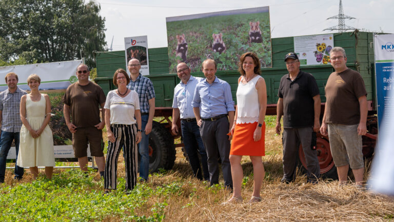
[[(323, 137), (317, 137), (316, 151), (318, 153), (320, 174), (322, 178), (338, 179), (337, 168), (332, 160), (330, 143)], [(306, 161), (302, 145), (300, 144), (298, 165), (302, 173), (307, 172)]]

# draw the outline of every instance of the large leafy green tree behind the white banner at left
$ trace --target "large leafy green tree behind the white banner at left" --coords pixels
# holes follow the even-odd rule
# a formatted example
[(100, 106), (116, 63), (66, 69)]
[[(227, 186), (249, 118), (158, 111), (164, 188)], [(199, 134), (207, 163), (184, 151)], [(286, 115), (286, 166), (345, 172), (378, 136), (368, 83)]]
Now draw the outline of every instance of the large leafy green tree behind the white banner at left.
[(2, 0), (0, 60), (27, 63), (85, 57), (95, 67), (92, 51), (105, 50), (105, 18), (100, 5), (83, 0)]

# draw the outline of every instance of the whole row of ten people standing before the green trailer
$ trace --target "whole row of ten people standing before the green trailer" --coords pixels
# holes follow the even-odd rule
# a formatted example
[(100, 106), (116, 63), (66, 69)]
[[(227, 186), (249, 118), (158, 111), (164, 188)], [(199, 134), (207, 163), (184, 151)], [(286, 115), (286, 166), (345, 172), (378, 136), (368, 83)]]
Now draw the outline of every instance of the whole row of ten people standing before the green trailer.
[[(321, 100), (316, 79), (300, 70), (297, 54), (290, 52), (285, 56), (288, 74), (282, 77), (279, 85), (275, 127), (280, 134), (283, 116), (282, 182), (290, 183), (295, 179), (300, 144), (307, 164), (307, 182), (318, 182), (320, 167), (313, 139), (316, 140), (316, 132), (320, 131), (322, 135), (329, 136), (340, 182), (347, 180), (350, 164), (356, 184), (362, 185), (361, 136), (366, 133), (367, 113), (364, 82), (358, 72), (346, 67), (343, 48), (334, 47), (330, 59), (335, 72), (331, 73), (325, 87), (327, 101), (320, 125)], [(91, 155), (104, 177), (105, 194), (116, 189), (117, 159), (122, 149), (126, 191), (132, 190), (137, 182), (137, 152), (141, 155), (139, 176), (142, 181), (148, 180), (148, 142), (155, 94), (152, 82), (141, 75), (140, 68), (140, 61), (132, 59), (128, 63), (130, 76), (124, 69), (117, 69), (113, 76), (117, 89), (106, 97), (99, 85), (89, 81), (89, 69), (81, 64), (76, 71), (78, 82), (67, 88), (63, 98), (64, 117), (73, 134), (75, 157), (81, 170), (87, 171), (89, 143)], [(260, 191), (265, 176), (262, 156), (265, 155), (264, 119), (267, 108), (267, 89), (261, 76), (260, 60), (252, 52), (241, 56), (238, 104), (235, 108), (230, 85), (215, 76), (216, 70), (214, 60), (205, 60), (202, 63), (204, 79), (191, 76), (186, 63), (178, 64), (176, 71), (181, 82), (174, 89), (171, 130), (173, 134), (181, 131), (196, 178), (209, 181), (210, 185), (219, 183), (220, 158), (224, 185), (233, 190), (229, 203), (242, 201), (241, 159), (244, 155), (249, 156), (254, 180), (249, 201), (258, 202), (261, 201)], [(41, 80), (37, 75), (28, 78), (30, 94), (19, 89), (17, 81), (15, 73), (8, 73), (8, 89), (0, 93), (0, 182), (4, 182), (5, 158), (12, 140), (15, 140), (17, 155), (15, 179), (22, 178), (24, 167), (29, 167), (35, 178), (37, 166), (45, 166), (46, 176), (51, 178), (54, 157), (52, 133), (48, 126), (51, 112), (49, 97), (38, 91)], [(16, 108), (19, 104), (20, 110)], [(100, 119), (99, 105), (104, 121)], [(343, 107), (346, 107), (345, 112)], [(181, 129), (177, 124), (179, 120)], [(108, 136), (106, 160), (102, 137), (104, 126)]]

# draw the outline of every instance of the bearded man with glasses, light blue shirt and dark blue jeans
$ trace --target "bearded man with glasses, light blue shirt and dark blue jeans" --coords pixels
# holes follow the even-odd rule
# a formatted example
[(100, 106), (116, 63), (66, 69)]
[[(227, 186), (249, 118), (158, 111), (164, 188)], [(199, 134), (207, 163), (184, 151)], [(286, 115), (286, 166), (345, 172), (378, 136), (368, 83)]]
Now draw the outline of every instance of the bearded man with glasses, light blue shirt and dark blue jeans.
[(197, 83), (204, 81), (204, 79), (191, 76), (190, 68), (186, 63), (178, 64), (178, 66), (176, 66), (176, 72), (178, 73), (178, 77), (181, 79), (181, 82), (175, 86), (174, 90), (171, 130), (173, 134), (178, 134), (179, 128), (177, 123), (181, 117), (183, 143), (185, 145), (187, 156), (189, 157), (193, 175), (200, 180), (203, 179), (198, 156), (198, 153), (200, 153), (204, 180), (209, 181), (207, 153), (205, 152), (203, 140), (200, 136), (200, 127), (197, 125), (193, 108), (191, 107), (195, 86)]

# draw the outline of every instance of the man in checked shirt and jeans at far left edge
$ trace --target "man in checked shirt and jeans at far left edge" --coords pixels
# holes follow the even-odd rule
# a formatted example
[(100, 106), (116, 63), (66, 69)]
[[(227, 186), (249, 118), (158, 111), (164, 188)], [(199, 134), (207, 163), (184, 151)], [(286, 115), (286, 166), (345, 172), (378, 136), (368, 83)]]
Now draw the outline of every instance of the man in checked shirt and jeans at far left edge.
[(17, 87), (18, 76), (14, 72), (6, 75), (8, 89), (0, 93), (0, 183), (4, 183), (6, 173), (6, 163), (8, 151), (11, 148), (12, 141), (15, 141), (16, 159), (15, 159), (15, 177), (21, 180), (23, 168), (16, 165), (19, 151), (19, 131), (21, 131), (22, 121), (19, 114), (19, 105), (21, 97), (26, 95), (26, 91)]

